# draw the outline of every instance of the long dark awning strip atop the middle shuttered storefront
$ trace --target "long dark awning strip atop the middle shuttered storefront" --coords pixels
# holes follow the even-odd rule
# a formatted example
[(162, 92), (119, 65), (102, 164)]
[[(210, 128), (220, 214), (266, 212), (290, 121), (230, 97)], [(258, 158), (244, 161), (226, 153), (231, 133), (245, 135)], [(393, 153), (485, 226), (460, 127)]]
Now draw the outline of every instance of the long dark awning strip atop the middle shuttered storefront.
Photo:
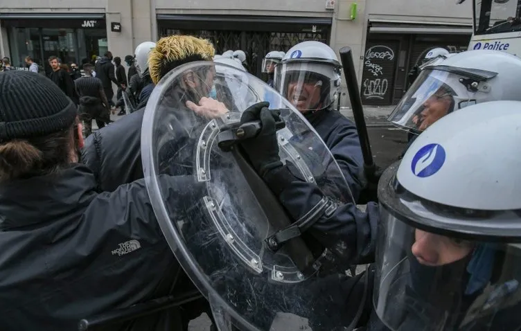
[(164, 28), (188, 30), (281, 31), (288, 33), (328, 30), (332, 17), (288, 17), (248, 15), (176, 15), (157, 14)]

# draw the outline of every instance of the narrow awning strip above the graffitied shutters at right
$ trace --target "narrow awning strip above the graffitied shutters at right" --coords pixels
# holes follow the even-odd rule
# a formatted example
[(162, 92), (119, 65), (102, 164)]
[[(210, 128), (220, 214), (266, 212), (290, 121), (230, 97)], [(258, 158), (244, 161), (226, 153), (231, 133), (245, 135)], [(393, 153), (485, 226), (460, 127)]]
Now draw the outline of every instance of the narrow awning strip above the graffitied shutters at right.
[(472, 25), (416, 24), (407, 21), (369, 21), (370, 33), (403, 33), (422, 35), (472, 35)]

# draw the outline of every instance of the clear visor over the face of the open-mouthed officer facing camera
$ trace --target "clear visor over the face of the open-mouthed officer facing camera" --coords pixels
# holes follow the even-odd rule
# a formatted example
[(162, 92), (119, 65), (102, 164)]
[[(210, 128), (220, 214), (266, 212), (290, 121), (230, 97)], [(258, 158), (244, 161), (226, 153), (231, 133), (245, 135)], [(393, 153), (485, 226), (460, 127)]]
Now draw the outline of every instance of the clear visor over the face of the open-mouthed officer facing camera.
[(276, 66), (275, 89), (299, 111), (315, 111), (334, 101), (332, 76), (339, 82), (339, 73), (330, 64), (282, 63)]

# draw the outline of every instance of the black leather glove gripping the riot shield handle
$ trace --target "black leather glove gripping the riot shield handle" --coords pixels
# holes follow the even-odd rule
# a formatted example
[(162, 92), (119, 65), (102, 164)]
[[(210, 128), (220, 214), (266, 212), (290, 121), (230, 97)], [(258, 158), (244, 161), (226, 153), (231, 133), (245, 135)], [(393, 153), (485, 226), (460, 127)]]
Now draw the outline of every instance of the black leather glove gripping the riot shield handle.
[(240, 141), (240, 145), (249, 157), (251, 165), (261, 178), (266, 172), (283, 165), (279, 157), (279, 143), (276, 136), (275, 123), (280, 118), (279, 110), (270, 110), (270, 102), (258, 102), (242, 113), (240, 124), (260, 120), (263, 128), (254, 138)]

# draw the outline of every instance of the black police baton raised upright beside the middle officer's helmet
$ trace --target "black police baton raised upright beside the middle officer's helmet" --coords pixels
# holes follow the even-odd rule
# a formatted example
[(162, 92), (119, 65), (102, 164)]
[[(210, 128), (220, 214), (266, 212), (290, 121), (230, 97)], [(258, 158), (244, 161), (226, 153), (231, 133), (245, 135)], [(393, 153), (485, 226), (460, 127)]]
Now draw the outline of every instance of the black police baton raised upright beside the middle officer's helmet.
[[(378, 175), (376, 175), (376, 164), (373, 161), (373, 153), (371, 152), (371, 143), (369, 142), (369, 134), (367, 133), (367, 125), (364, 118), (364, 107), (362, 107), (362, 98), (360, 98), (360, 89), (356, 80), (355, 64), (353, 62), (353, 51), (351, 47), (345, 46), (340, 48), (340, 60), (342, 61), (342, 69), (346, 77), (347, 91), (349, 100), (351, 100), (351, 109), (353, 109), (353, 117), (355, 118), (358, 139), (360, 139), (360, 147), (362, 148), (362, 156), (364, 157), (364, 172), (369, 184), (378, 184)], [(373, 183), (376, 182), (376, 183)], [(372, 198), (376, 199), (376, 191), (373, 192)], [(362, 199), (362, 197), (361, 197)]]

